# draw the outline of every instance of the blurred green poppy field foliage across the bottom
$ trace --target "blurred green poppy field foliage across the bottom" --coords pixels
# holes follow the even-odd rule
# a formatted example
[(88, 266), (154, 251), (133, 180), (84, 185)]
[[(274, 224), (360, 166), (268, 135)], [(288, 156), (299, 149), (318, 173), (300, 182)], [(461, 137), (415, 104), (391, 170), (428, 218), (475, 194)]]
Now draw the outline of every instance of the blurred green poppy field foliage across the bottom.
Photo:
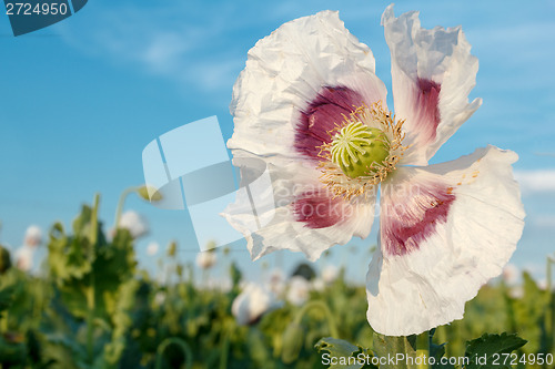
[[(161, 280), (138, 268), (128, 229), (107, 235), (98, 207), (97, 196), (71, 229), (51, 227), (41, 276), (0, 248), (1, 369), (324, 368), (314, 350), (322, 337), (372, 347), (365, 289), (347, 284), (344, 269), (322, 275), (302, 265), (253, 287), (222, 248), (212, 256), (231, 284), (211, 285), (180, 264), (171, 244)], [(215, 263), (202, 260), (205, 269)], [(436, 329), (446, 356), (463, 356), (466, 341), (486, 331), (518, 332), (528, 340), (521, 353), (555, 353), (551, 283), (541, 288), (526, 273), (518, 284), (506, 280), (484, 286), (463, 320)]]

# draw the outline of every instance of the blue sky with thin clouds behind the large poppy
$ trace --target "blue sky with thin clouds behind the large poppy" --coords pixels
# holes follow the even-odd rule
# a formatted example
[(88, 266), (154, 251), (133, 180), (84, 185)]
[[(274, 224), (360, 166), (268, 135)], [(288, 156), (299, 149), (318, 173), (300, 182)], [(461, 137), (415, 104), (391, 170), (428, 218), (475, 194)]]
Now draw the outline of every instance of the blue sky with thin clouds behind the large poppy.
[[(182, 1), (91, 0), (82, 11), (48, 29), (13, 38), (0, 16), (0, 240), (21, 244), (29, 224), (69, 225), (81, 203), (102, 194), (101, 216), (113, 223), (120, 193), (143, 182), (141, 152), (157, 136), (218, 115), (232, 134), (233, 82), (254, 43), (283, 22), (320, 10), (340, 10), (345, 25), (371, 47), (377, 75), (391, 85), (390, 53), (380, 19), (387, 1)], [(397, 14), (420, 10), (422, 24), (463, 25), (480, 60), (471, 98), (483, 106), (434, 162), (493, 144), (516, 151), (515, 171), (527, 211), (513, 262), (543, 274), (555, 250), (555, 3), (536, 1), (400, 1)], [(391, 99), (391, 93), (390, 96)], [(393, 106), (392, 101), (389, 104)], [(148, 242), (180, 242), (193, 260), (185, 212), (157, 209), (130, 197), (128, 209), (144, 214)], [(366, 273), (366, 240), (355, 240), (352, 278)], [(244, 244), (233, 257), (256, 274)], [(302, 256), (284, 254), (286, 267)], [(353, 262), (356, 259), (356, 262)], [(278, 263), (268, 258), (269, 264)]]

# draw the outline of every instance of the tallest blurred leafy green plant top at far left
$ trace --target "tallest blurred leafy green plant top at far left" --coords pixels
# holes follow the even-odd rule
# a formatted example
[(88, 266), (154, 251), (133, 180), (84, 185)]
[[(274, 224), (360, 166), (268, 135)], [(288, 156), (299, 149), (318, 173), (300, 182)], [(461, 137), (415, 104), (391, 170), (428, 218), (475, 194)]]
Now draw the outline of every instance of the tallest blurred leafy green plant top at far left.
[(113, 240), (107, 244), (97, 209), (98, 203), (92, 209), (82, 207), (73, 222), (73, 235), (67, 235), (59, 223), (50, 232), (50, 276), (57, 281), (64, 305), (78, 318), (89, 314), (87, 294), (91, 289), (94, 291), (94, 315), (104, 319), (112, 315), (113, 304), (107, 304), (119, 299), (119, 287), (135, 271), (133, 238), (129, 230), (118, 229)]

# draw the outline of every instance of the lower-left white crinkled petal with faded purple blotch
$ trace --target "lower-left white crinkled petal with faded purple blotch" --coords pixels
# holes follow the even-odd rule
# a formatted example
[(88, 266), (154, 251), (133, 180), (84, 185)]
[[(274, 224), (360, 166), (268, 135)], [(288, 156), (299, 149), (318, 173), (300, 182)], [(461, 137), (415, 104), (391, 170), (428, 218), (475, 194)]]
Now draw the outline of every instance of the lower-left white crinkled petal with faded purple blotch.
[(333, 198), (317, 181), (315, 171), (295, 162), (280, 167), (270, 164), (268, 170), (272, 177), (271, 195), (250, 195), (256, 204), (255, 222), (245, 192), (238, 192), (235, 203), (222, 213), (245, 237), (253, 260), (279, 249), (302, 252), (315, 260), (336, 244), (370, 234), (375, 195), (360, 203)]

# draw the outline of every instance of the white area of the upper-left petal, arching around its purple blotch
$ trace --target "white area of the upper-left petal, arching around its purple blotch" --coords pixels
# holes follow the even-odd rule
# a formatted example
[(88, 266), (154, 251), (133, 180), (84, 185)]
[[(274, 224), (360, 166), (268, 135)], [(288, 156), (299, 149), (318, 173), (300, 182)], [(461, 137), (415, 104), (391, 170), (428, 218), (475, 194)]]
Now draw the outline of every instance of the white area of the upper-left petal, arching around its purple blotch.
[(369, 106), (385, 101), (374, 64), (372, 51), (345, 29), (337, 12), (281, 25), (249, 51), (233, 86), (235, 127), (228, 147), (233, 156), (248, 152), (269, 162), (299, 156), (293, 147), (300, 112), (324, 86), (354, 90)]

